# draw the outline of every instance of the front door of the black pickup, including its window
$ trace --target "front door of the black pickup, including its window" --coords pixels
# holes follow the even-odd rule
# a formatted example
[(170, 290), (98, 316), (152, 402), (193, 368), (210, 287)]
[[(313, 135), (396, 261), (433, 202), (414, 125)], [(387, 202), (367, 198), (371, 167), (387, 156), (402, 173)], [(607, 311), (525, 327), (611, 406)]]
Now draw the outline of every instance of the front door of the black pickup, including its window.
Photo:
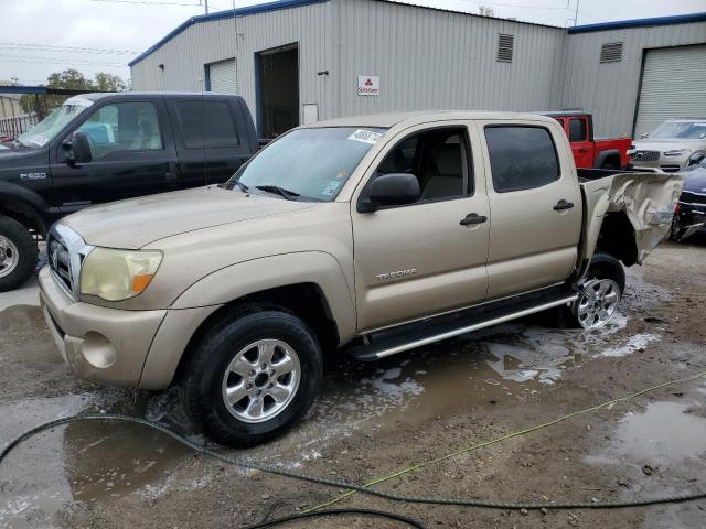
[(51, 153), (55, 203), (71, 213), (178, 188), (168, 123), (161, 101), (110, 100), (97, 106), (77, 129), (88, 137), (92, 161), (69, 164), (61, 145)]

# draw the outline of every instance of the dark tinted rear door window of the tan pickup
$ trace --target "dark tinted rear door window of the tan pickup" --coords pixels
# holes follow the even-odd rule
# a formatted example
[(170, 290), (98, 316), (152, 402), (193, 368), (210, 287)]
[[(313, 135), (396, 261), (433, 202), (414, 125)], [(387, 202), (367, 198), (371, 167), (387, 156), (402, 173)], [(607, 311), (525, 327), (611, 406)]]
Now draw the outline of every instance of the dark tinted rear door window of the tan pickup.
[(485, 142), (498, 193), (542, 187), (559, 180), (554, 141), (544, 127), (488, 126)]

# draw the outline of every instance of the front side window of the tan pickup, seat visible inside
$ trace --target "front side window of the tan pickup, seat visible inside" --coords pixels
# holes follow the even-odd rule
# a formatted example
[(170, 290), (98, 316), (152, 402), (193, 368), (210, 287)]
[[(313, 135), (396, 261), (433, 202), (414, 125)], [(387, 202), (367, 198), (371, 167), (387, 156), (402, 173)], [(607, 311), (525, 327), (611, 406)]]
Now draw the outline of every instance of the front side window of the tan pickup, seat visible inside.
[(468, 196), (473, 194), (472, 179), (467, 177), (468, 152), (463, 129), (426, 131), (397, 143), (378, 165), (377, 174), (414, 174), (420, 201)]

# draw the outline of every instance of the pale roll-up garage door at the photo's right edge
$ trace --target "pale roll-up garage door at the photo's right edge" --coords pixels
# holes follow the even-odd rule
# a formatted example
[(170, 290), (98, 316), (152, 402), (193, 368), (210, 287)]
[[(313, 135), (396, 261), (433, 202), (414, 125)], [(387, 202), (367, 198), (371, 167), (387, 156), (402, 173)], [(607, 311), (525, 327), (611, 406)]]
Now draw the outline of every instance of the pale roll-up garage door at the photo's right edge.
[(671, 118), (706, 119), (706, 45), (650, 50), (644, 61), (635, 138)]

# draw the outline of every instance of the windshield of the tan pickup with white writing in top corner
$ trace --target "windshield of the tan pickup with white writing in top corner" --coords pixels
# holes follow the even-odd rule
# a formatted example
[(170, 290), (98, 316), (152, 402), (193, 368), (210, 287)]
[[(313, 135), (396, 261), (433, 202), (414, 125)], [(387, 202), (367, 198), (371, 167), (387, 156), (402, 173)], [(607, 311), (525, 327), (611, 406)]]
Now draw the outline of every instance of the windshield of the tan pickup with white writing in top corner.
[(331, 202), (384, 132), (370, 127), (295, 130), (240, 168), (226, 187)]

